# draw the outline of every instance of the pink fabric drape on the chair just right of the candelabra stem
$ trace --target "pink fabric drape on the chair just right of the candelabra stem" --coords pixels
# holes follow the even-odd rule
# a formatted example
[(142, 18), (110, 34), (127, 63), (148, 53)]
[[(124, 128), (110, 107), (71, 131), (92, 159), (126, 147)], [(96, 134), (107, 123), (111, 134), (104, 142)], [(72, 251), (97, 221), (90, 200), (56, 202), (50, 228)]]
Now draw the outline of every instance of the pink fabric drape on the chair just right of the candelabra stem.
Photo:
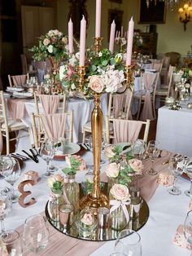
[(114, 143), (134, 143), (141, 129), (142, 121), (115, 119), (113, 121)]

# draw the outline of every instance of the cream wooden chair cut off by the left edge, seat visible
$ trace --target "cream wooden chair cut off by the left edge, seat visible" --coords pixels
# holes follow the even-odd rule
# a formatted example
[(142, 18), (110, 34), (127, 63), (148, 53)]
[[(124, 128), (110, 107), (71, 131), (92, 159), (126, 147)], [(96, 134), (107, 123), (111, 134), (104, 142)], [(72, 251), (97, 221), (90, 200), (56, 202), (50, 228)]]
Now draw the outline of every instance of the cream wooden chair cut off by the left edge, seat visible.
[(7, 155), (10, 153), (10, 141), (19, 139), (19, 137), (15, 136), (10, 139), (9, 133), (14, 131), (17, 132), (19, 130), (26, 129), (22, 121), (14, 121), (13, 119), (7, 116), (7, 104), (4, 99), (3, 91), (0, 91), (1, 104), (0, 104), (0, 136), (6, 137), (6, 147), (7, 147)]

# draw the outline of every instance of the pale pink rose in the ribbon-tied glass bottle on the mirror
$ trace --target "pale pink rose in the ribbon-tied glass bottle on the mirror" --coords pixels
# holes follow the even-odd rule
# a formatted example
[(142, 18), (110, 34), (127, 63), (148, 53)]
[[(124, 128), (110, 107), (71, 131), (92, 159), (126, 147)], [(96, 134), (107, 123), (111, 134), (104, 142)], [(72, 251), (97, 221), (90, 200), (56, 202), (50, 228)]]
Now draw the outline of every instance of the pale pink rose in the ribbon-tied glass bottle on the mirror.
[(115, 184), (112, 186), (111, 195), (116, 199), (120, 201), (129, 201), (130, 200), (130, 194), (129, 189), (121, 184)]

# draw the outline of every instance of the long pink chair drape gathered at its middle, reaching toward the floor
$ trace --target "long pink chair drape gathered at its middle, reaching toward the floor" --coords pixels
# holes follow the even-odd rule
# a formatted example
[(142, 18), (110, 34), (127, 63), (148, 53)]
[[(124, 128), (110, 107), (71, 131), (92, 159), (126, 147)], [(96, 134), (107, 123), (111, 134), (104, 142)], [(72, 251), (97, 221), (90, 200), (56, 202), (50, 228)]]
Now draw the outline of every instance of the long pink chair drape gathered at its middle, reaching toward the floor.
[(157, 73), (144, 73), (143, 74), (143, 84), (146, 90), (144, 104), (142, 108), (142, 113), (140, 120), (146, 121), (146, 119), (154, 120), (153, 116), (153, 108), (151, 101), (151, 91), (154, 90), (155, 79), (157, 77)]

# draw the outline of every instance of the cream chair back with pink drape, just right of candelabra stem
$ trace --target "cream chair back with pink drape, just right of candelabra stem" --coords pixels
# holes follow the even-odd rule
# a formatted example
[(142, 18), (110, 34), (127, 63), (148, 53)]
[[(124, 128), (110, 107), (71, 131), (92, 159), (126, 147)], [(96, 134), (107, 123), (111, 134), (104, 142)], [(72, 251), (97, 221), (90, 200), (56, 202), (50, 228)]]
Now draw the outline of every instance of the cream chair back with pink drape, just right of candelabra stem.
[[(111, 133), (110, 122), (112, 122), (113, 132)], [(145, 126), (143, 141), (146, 143), (149, 135), (150, 120), (135, 121), (106, 117), (106, 139), (110, 143), (111, 139), (114, 143), (130, 142), (134, 143), (140, 134), (142, 126)]]

